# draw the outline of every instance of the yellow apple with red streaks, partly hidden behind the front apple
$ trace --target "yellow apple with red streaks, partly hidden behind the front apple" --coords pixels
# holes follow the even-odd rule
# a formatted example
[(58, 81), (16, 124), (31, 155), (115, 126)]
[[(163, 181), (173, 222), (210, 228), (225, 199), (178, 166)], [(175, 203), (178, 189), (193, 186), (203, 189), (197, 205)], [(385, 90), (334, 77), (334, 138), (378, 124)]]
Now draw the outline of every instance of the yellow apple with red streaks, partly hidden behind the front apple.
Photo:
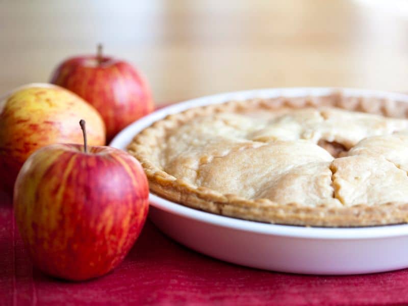
[(90, 145), (105, 144), (105, 124), (82, 98), (50, 84), (29, 84), (0, 98), (0, 189), (11, 193), (17, 173), (36, 149), (82, 143), (77, 124), (88, 122)]

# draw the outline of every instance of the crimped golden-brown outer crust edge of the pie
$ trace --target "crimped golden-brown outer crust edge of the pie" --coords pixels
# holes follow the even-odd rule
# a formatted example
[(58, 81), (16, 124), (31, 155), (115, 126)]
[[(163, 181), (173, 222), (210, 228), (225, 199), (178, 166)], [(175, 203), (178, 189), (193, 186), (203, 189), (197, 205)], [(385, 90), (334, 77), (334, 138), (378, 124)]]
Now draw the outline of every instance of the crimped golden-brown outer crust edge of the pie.
[(158, 144), (164, 141), (171, 131), (199, 116), (222, 112), (245, 112), (252, 109), (273, 111), (281, 108), (321, 106), (387, 117), (408, 117), (408, 104), (403, 101), (350, 97), (341, 93), (318, 97), (234, 100), (169, 115), (137, 134), (127, 146), (127, 150), (142, 164), (152, 192), (191, 208), (246, 220), (305, 226), (371, 226), (408, 222), (408, 203), (388, 202), (371, 206), (361, 204), (334, 208), (325, 204), (304, 207), (300, 203), (282, 205), (269, 199), (249, 200), (233, 194), (221, 194), (177, 179), (161, 170), (150, 158), (151, 152), (158, 150)]

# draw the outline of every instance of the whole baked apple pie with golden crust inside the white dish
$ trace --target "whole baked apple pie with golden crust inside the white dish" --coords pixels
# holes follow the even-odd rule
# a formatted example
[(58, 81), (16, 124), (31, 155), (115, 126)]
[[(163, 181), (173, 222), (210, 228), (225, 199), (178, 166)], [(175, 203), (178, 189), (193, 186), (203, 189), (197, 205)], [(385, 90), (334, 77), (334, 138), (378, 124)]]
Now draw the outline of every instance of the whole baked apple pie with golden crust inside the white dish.
[(376, 97), (228, 101), (169, 115), (127, 150), (150, 190), (229, 217), (305, 226), (408, 222), (408, 104)]

